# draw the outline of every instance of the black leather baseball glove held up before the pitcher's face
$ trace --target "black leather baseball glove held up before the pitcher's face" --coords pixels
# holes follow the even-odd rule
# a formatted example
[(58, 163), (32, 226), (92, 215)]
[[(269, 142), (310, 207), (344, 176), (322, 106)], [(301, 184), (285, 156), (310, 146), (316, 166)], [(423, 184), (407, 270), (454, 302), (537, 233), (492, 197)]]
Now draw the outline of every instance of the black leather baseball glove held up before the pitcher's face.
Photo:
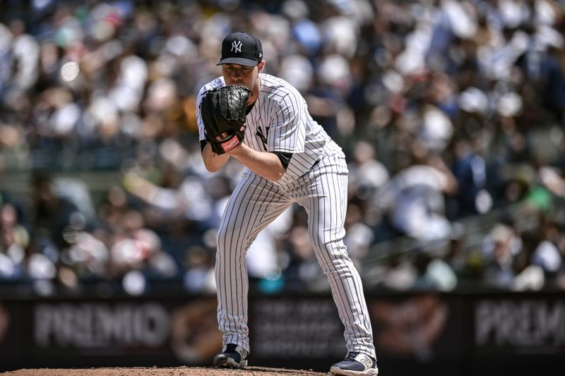
[(227, 85), (204, 94), (200, 105), (202, 122), (215, 154), (229, 152), (242, 143), (249, 92), (243, 85)]

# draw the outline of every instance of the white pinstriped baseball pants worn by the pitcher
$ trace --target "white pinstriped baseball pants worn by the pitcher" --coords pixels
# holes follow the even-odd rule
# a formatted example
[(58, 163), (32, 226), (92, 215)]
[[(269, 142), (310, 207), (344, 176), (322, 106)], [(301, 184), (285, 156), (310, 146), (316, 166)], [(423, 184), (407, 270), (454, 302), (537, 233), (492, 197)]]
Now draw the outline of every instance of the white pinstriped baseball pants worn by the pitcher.
[(245, 254), (259, 231), (297, 202), (306, 210), (309, 236), (345, 326), (347, 351), (375, 358), (371, 322), (357, 269), (343, 244), (347, 208), (345, 159), (326, 157), (287, 186), (247, 172), (232, 193), (218, 230), (215, 278), (223, 344), (249, 352)]

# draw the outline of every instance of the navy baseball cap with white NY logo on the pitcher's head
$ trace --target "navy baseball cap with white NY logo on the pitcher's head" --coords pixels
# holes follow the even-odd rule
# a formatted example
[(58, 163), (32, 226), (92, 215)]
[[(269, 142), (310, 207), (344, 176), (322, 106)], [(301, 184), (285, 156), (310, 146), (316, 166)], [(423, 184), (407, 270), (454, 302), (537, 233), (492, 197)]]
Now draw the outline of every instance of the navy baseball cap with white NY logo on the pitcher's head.
[(263, 60), (261, 41), (248, 32), (232, 32), (222, 41), (222, 58), (216, 65), (256, 66)]

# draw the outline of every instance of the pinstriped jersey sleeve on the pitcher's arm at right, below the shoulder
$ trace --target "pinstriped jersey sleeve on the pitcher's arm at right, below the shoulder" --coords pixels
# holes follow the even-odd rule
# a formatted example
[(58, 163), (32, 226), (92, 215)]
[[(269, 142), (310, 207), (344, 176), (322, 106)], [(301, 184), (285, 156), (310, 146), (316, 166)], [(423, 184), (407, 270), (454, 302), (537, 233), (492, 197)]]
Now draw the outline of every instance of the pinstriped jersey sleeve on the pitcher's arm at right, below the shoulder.
[(268, 133), (269, 150), (272, 152), (301, 153), (306, 141), (304, 114), (306, 102), (301, 95), (290, 92), (275, 107)]

